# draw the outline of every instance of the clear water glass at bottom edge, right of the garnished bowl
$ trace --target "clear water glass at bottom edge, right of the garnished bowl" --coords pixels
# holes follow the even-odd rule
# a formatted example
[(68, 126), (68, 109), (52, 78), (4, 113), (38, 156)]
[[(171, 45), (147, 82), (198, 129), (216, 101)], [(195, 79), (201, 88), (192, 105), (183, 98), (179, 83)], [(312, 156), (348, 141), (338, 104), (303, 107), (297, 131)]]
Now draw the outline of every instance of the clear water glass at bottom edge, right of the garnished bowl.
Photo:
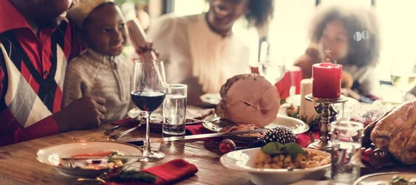
[(354, 121), (331, 123), (331, 183), (354, 184), (360, 177), (363, 124)]

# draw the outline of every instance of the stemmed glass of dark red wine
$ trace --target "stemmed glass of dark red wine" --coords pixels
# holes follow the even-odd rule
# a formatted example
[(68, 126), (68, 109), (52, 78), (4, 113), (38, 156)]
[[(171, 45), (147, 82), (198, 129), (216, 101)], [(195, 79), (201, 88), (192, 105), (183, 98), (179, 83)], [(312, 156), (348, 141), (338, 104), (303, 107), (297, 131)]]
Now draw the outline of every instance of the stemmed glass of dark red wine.
[(166, 96), (166, 78), (162, 61), (136, 60), (132, 76), (131, 97), (133, 103), (146, 117), (146, 141), (144, 161), (158, 161), (164, 158), (163, 152), (150, 149), (150, 114), (162, 105)]

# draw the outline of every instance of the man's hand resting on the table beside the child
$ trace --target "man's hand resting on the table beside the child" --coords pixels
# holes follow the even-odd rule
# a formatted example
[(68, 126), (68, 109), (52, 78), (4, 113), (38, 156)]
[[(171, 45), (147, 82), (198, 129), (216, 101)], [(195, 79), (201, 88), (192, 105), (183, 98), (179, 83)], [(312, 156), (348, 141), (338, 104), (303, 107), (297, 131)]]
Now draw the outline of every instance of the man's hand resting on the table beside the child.
[(53, 118), (55, 118), (61, 132), (97, 127), (107, 112), (104, 103), (104, 98), (85, 96), (53, 114)]

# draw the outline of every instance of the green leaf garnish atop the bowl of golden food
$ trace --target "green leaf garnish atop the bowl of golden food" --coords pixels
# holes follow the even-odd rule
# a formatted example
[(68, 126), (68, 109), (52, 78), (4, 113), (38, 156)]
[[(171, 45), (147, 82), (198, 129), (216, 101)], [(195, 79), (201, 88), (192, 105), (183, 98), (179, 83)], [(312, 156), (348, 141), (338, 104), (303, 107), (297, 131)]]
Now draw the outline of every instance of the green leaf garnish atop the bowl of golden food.
[(291, 155), (293, 159), (295, 159), (298, 154), (306, 155), (303, 148), (297, 143), (286, 143), (286, 145), (282, 145), (279, 142), (271, 142), (263, 146), (261, 151), (272, 156), (280, 154)]

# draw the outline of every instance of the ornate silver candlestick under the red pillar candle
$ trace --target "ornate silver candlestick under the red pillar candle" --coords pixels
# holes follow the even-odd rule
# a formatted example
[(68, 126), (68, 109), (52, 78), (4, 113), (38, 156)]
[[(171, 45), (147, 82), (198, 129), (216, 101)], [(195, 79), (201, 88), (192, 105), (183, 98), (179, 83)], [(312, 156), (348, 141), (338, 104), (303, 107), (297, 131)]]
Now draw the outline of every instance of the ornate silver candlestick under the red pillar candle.
[(329, 141), (329, 118), (330, 118), (330, 112), (329, 108), (331, 107), (331, 104), (333, 103), (345, 103), (347, 102), (347, 98), (345, 96), (341, 95), (340, 98), (316, 98), (313, 97), (312, 94), (308, 94), (305, 96), (306, 100), (309, 100), (311, 102), (320, 103), (322, 105), (322, 112), (321, 114), (321, 127), (320, 127), (320, 141), (313, 142), (309, 144), (307, 148), (315, 149), (315, 150), (331, 150), (331, 141)]

